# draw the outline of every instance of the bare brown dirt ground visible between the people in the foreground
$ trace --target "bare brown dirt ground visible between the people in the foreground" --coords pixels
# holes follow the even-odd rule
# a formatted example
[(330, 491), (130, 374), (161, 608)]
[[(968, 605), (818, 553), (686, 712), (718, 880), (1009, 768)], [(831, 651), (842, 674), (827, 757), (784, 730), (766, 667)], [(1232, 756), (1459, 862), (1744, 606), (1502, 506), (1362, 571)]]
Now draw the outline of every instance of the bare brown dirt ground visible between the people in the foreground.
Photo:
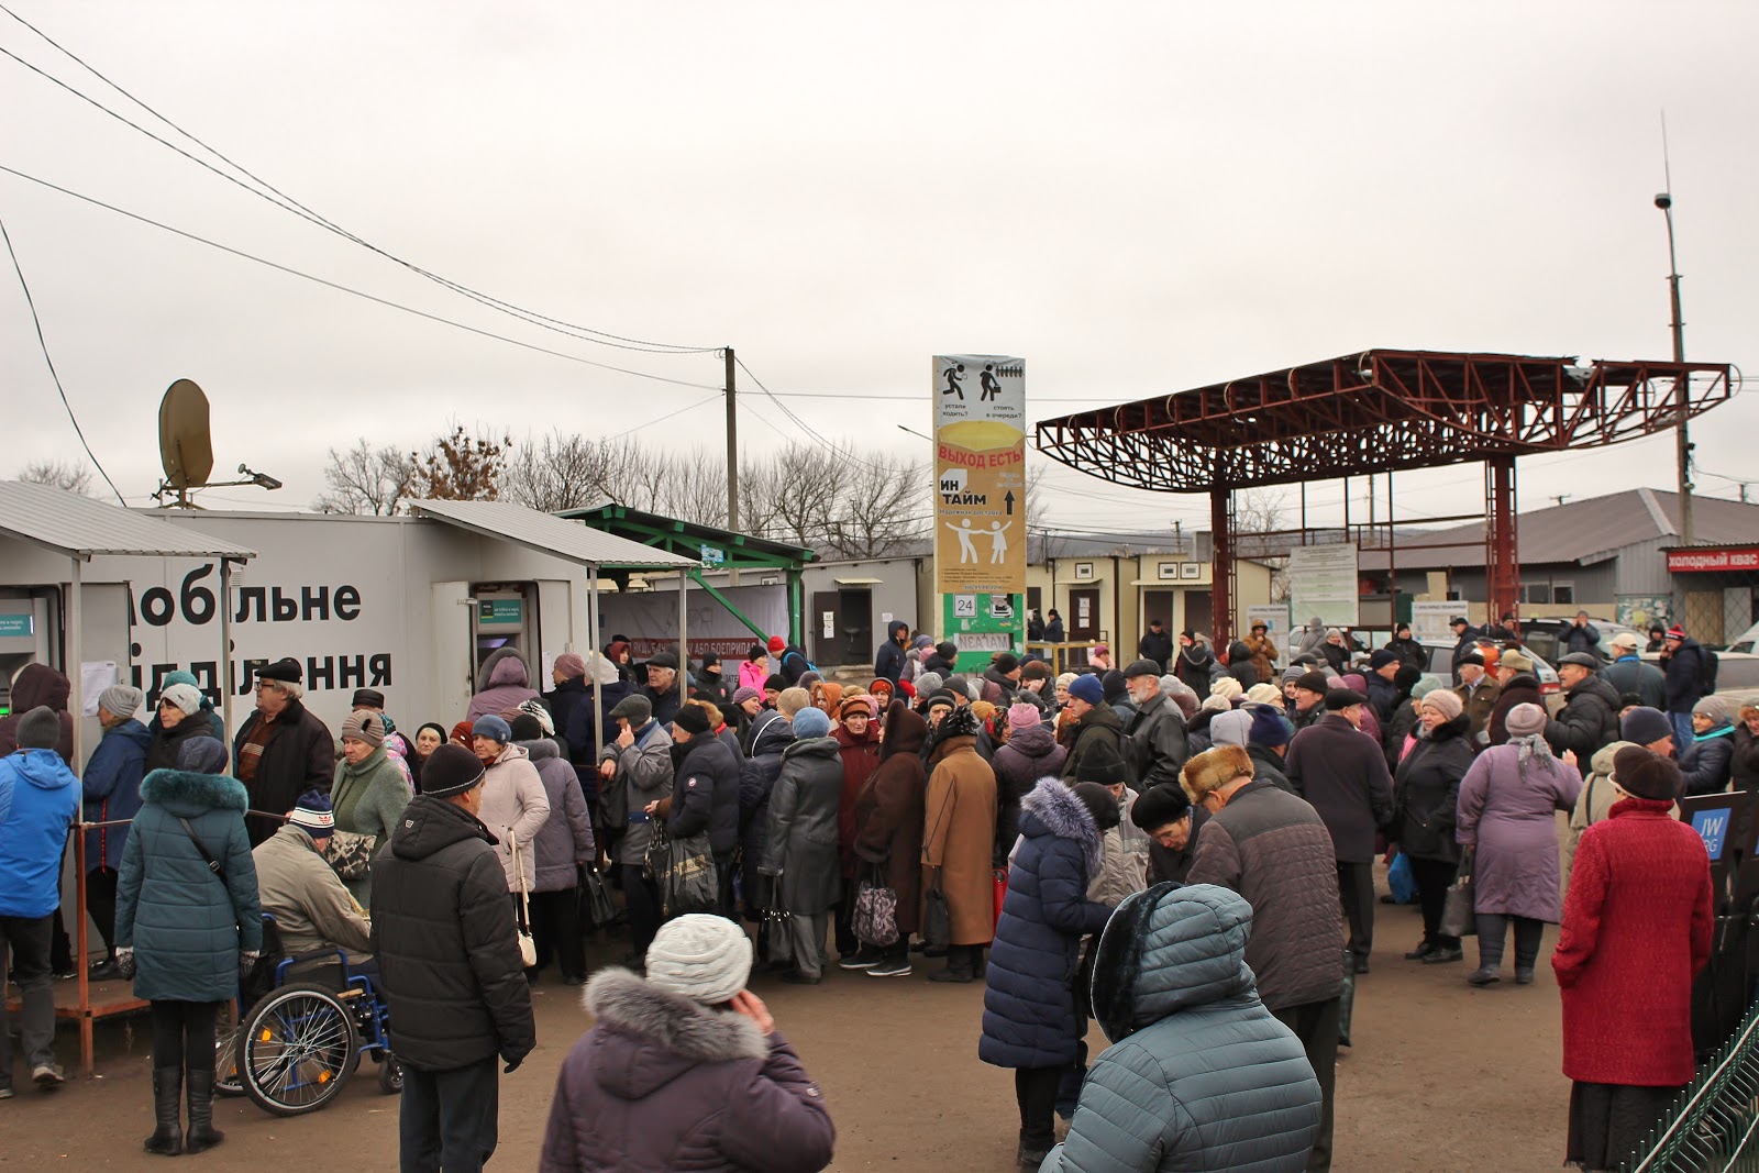
[[(1384, 883), (1384, 879), (1383, 879)], [(1400, 953), (1420, 936), (1409, 907), (1377, 907), (1374, 973), (1360, 980), (1356, 1046), (1337, 1071), (1337, 1169), (1555, 1169), (1564, 1157), (1569, 1085), (1558, 1073), (1558, 999), (1541, 964), (1532, 987), (1465, 985), (1472, 964), (1418, 965)], [(1546, 957), (1555, 930), (1546, 937)], [(603, 943), (595, 964), (621, 953)], [(837, 1124), (834, 1169), (1015, 1169), (1011, 1073), (976, 1057), (982, 985), (932, 985), (920, 962), (904, 980), (830, 971), (821, 987), (760, 976), (753, 988), (823, 1085)], [(588, 1027), (579, 990), (545, 978), (535, 990), (538, 1050), (501, 1080), (501, 1143), (491, 1168), (533, 1169), (556, 1069)], [(58, 1038), (72, 1069), (77, 1036)], [(99, 1078), (55, 1094), (21, 1087), (0, 1103), (0, 1168), (162, 1168), (141, 1152), (151, 1131), (146, 1024), (99, 1027)], [(1105, 1039), (1094, 1031), (1098, 1053)], [(250, 1101), (216, 1104), (227, 1143), (202, 1168), (394, 1169), (394, 1099), (371, 1062), (315, 1118), (283, 1120)]]

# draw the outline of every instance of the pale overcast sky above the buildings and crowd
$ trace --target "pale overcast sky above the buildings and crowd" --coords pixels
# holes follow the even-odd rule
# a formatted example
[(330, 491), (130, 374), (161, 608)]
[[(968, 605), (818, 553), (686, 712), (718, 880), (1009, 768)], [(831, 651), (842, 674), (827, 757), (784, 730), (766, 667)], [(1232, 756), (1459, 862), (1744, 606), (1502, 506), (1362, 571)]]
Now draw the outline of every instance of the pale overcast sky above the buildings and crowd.
[[(570, 322), (730, 343), (772, 390), (830, 396), (786, 403), (864, 447), (925, 452), (897, 424), (927, 429), (938, 352), (1024, 355), (1034, 417), (1367, 346), (1668, 357), (1662, 107), (1687, 355), (1759, 378), (1752, 4), (4, 2), (368, 241)], [(0, 47), (151, 125), (5, 14)], [(593, 346), (440, 290), (9, 58), (0, 109), (7, 167), (482, 329), (719, 383), (716, 355)], [(0, 216), (130, 496), (158, 477), (179, 376), (213, 399), (216, 475), (248, 461), (287, 482), (218, 496), (280, 508), (361, 434), (605, 434), (712, 396), (9, 174)], [(77, 455), (4, 262), (0, 378), (0, 473)], [(792, 434), (755, 389), (741, 403), (746, 443)], [(1699, 464), (1759, 478), (1755, 415), (1743, 394), (1697, 424)], [(718, 447), (719, 403), (637, 434)], [(1207, 528), (1203, 498), (1052, 468), (1054, 524)], [(1520, 466), (1529, 508), (1673, 480), (1671, 436)], [(1481, 484), (1479, 466), (1400, 477), (1400, 517), (1476, 508)], [(1310, 489), (1314, 517), (1340, 498)]]

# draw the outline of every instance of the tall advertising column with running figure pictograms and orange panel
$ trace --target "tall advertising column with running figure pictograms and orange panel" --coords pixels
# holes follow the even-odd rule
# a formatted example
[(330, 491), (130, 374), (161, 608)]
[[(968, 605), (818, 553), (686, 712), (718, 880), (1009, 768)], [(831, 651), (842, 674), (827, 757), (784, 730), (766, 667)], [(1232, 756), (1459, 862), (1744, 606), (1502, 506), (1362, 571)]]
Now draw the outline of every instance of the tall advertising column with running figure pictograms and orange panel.
[(934, 357), (934, 589), (960, 672), (1025, 644), (1025, 359)]

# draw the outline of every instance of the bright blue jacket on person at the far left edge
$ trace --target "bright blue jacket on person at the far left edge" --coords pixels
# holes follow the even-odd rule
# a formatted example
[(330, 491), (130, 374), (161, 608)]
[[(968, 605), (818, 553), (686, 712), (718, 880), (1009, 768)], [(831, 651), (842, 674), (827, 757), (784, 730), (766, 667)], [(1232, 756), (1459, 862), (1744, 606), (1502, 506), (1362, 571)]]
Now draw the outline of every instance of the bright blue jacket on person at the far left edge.
[(53, 749), (0, 758), (0, 916), (35, 920), (62, 904), (62, 849), (79, 779)]

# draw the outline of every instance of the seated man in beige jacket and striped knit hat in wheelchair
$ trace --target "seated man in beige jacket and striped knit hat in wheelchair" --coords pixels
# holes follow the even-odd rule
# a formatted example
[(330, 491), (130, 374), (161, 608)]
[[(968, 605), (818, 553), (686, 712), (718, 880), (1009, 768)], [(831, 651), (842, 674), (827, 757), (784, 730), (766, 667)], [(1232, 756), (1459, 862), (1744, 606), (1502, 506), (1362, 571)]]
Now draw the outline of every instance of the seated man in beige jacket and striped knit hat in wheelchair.
[(262, 911), (274, 916), (281, 948), (288, 953), (339, 948), (354, 965), (357, 953), (371, 951), (373, 930), (320, 855), (334, 830), (329, 795), (310, 790), (299, 797), (287, 825), (250, 855), (257, 863)]

